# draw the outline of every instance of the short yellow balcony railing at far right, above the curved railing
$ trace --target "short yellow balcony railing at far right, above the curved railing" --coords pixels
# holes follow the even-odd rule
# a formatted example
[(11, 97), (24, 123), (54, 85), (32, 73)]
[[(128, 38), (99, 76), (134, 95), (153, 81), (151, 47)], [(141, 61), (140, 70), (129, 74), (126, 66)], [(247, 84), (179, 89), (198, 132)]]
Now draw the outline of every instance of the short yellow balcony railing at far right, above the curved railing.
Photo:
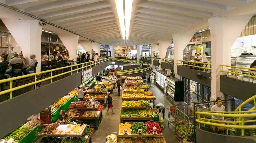
[[(254, 79), (256, 78), (256, 68), (230, 66), (230, 65), (220, 65), (220, 66), (221, 66), (220, 72), (231, 74), (235, 78), (236, 78), (236, 75), (241, 75), (241, 76), (244, 76), (244, 77), (248, 77), (249, 82), (251, 82), (251, 78), (254, 78)], [(223, 70), (223, 67), (226, 68), (226, 69), (228, 67), (230, 67), (230, 69)], [(247, 72), (247, 74), (243, 74), (243, 73), (246, 73), (246, 72)]]

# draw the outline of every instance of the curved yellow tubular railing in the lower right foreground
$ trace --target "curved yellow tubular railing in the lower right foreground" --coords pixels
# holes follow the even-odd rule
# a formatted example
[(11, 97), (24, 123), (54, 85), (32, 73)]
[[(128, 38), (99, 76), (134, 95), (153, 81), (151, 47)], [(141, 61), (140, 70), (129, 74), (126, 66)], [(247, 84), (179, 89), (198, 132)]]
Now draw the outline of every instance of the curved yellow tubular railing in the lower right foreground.
[[(241, 108), (250, 103), (254, 102), (254, 107), (252, 107), (248, 111), (241, 111)], [(256, 129), (256, 125), (244, 125), (245, 123), (250, 123), (250, 122), (256, 122), (256, 120), (245, 120), (245, 118), (252, 118), (256, 117), (256, 95), (252, 96), (251, 98), (247, 99), (244, 101), (242, 104), (240, 104), (235, 111), (197, 111), (197, 119), (196, 122), (201, 124), (206, 124), (206, 125), (212, 125), (212, 126), (219, 126), (219, 127), (225, 127), (227, 130), (232, 130), (235, 131), (235, 129), (241, 129), (242, 133), (241, 135), (244, 136), (244, 130), (245, 129)], [(207, 119), (207, 118), (202, 118), (205, 116), (220, 116), (220, 117), (231, 117), (234, 118), (234, 121), (219, 121), (219, 120), (214, 120), (214, 119)], [(218, 123), (213, 123), (213, 122), (218, 122)], [(226, 124), (220, 124), (220, 123), (226, 123)], [(228, 134), (228, 132), (227, 132)]]

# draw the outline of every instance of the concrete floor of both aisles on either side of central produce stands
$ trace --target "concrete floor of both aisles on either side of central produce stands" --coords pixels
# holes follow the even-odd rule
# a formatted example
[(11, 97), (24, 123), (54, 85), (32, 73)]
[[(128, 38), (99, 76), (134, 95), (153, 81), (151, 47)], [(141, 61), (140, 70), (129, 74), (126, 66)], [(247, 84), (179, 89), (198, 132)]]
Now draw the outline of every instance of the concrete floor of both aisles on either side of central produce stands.
[[(150, 91), (156, 96), (155, 105), (158, 103), (163, 103), (165, 105), (165, 128), (163, 129), (163, 134), (167, 143), (176, 143), (178, 142), (175, 137), (175, 128), (171, 125), (168, 126), (168, 110), (167, 107), (172, 106), (172, 104), (166, 99), (165, 94), (160, 90), (156, 85), (155, 88), (150, 88)], [(122, 92), (122, 91), (121, 91)], [(106, 141), (106, 133), (118, 132), (118, 124), (120, 123), (120, 107), (121, 107), (121, 96), (117, 96), (117, 89), (114, 89), (112, 98), (114, 99), (114, 115), (106, 115), (107, 108), (103, 109), (103, 119), (99, 125), (98, 130), (94, 130), (92, 134), (93, 143), (103, 143)], [(111, 114), (111, 110), (109, 111)]]

